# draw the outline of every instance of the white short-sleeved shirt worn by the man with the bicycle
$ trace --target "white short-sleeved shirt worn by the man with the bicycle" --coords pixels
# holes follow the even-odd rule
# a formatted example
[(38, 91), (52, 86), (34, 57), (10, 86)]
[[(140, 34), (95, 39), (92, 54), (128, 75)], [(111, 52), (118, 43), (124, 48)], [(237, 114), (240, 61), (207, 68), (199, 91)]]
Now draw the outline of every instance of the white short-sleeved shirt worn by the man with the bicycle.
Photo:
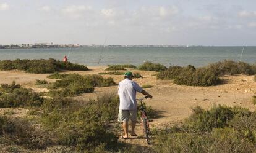
[(119, 110), (136, 110), (136, 92), (142, 92), (142, 88), (130, 79), (119, 82), (118, 95), (120, 98)]

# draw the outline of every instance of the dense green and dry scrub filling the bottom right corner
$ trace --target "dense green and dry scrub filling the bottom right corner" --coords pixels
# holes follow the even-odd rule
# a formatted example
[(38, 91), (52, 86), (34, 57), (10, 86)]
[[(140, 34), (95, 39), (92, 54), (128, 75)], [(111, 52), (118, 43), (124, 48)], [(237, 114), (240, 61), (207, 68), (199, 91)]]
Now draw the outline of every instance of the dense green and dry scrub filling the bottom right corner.
[(238, 106), (192, 111), (184, 124), (156, 133), (155, 152), (255, 152), (255, 112)]

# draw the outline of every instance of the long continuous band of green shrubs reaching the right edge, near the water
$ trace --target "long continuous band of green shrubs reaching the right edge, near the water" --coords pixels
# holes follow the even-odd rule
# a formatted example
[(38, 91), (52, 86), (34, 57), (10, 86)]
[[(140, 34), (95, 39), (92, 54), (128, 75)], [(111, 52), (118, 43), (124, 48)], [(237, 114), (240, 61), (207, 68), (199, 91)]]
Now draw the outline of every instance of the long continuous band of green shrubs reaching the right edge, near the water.
[(244, 62), (224, 60), (213, 63), (202, 68), (195, 68), (192, 65), (186, 67), (170, 66), (165, 71), (161, 71), (158, 79), (173, 79), (174, 84), (190, 86), (210, 86), (221, 83), (220, 76), (256, 73), (255, 65)]

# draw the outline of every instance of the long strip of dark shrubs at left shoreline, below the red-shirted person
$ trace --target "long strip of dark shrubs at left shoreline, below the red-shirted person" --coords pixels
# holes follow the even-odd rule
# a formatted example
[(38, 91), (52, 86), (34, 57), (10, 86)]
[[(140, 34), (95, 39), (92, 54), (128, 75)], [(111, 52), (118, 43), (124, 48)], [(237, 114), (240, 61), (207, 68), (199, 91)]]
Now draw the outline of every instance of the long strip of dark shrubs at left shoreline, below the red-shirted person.
[(61, 70), (87, 71), (88, 68), (84, 65), (63, 62), (50, 58), (49, 60), (2, 60), (0, 61), (0, 70), (18, 69), (26, 73), (54, 73)]

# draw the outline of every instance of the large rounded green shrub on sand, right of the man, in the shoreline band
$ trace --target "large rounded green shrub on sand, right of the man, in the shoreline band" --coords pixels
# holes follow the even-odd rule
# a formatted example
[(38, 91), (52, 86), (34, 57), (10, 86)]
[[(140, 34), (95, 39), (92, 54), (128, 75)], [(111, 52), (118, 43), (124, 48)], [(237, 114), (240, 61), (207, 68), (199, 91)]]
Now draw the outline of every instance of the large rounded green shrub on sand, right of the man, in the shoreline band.
[(174, 84), (190, 86), (218, 85), (221, 80), (209, 69), (185, 68), (182, 73), (174, 79)]

